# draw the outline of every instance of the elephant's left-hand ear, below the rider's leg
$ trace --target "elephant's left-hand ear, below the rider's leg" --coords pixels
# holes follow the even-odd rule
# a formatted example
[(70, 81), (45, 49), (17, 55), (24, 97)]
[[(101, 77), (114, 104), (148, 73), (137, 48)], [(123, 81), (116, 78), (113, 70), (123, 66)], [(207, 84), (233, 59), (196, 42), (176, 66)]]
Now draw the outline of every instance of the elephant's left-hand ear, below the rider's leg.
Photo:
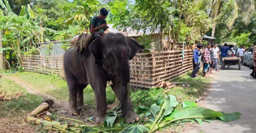
[(102, 60), (102, 52), (101, 52), (101, 41), (100, 39), (95, 39), (92, 41), (92, 43), (89, 46), (90, 52), (95, 57), (95, 62), (100, 63)]

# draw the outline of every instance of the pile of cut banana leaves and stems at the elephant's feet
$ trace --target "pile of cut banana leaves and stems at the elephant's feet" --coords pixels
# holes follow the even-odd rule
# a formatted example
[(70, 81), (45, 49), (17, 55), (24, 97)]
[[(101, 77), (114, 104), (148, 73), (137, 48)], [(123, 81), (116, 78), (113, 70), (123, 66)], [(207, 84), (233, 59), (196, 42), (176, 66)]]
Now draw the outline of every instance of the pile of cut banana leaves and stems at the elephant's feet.
[[(46, 130), (60, 132), (155, 132), (171, 124), (183, 122), (202, 124), (203, 122), (211, 122), (212, 120), (228, 122), (237, 120), (242, 115), (239, 112), (224, 113), (213, 111), (204, 107), (198, 107), (195, 102), (189, 101), (182, 102), (181, 110), (175, 109), (177, 105), (178, 102), (176, 98), (173, 95), (168, 95), (165, 99), (159, 99), (157, 103), (151, 105), (149, 109), (144, 106), (139, 106), (139, 110), (142, 113), (140, 114), (141, 119), (138, 122), (132, 124), (118, 123), (117, 119), (121, 111), (117, 111), (119, 109), (119, 107), (117, 107), (114, 111), (107, 113), (103, 124), (96, 124), (91, 119), (89, 119), (91, 123), (86, 123), (76, 119), (46, 115), (43, 117), (41, 115), (41, 117), (38, 118), (38, 114), (49, 108), (47, 103), (42, 103), (26, 117), (26, 121), (38, 124)], [(62, 119), (63, 121), (53, 121), (55, 118)]]

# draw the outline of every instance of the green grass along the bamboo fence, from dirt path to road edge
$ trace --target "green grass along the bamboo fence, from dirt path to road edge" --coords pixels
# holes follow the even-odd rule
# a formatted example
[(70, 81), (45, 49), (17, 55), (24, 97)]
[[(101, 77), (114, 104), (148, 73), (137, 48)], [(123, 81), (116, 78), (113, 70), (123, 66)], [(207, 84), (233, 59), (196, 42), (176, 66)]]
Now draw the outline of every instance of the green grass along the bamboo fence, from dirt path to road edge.
[[(164, 99), (164, 97), (169, 94), (177, 97), (179, 102), (195, 101), (198, 97), (203, 96), (205, 89), (209, 88), (210, 79), (203, 78), (202, 76), (191, 78), (190, 74), (191, 72), (188, 72), (181, 77), (170, 80), (171, 82), (188, 82), (189, 87), (187, 87), (187, 84), (186, 87), (182, 87), (181, 84), (178, 84), (167, 93), (163, 93), (165, 90), (163, 88), (132, 88), (130, 90), (130, 96), (132, 96), (131, 99), (135, 111), (138, 111), (138, 105), (149, 107), (151, 104), (156, 103), (158, 99)], [(52, 95), (60, 101), (68, 101), (67, 83), (60, 77), (34, 72), (9, 72), (5, 73), (5, 76), (19, 78), (39, 92)], [(116, 96), (111, 87), (107, 87), (106, 94), (108, 104), (115, 102)], [(95, 107), (95, 96), (90, 85), (84, 89), (84, 103), (85, 105)], [(181, 109), (181, 106), (178, 106), (178, 109), (179, 108)]]

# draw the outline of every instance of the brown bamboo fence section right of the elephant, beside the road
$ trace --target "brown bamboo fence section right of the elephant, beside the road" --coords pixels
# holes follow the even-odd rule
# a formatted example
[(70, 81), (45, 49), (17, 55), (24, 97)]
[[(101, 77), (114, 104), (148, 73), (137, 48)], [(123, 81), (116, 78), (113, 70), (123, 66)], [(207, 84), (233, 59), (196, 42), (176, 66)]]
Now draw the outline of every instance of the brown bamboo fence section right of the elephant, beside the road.
[(193, 69), (193, 51), (161, 51), (137, 54), (130, 61), (133, 87), (153, 88), (159, 82), (178, 77)]

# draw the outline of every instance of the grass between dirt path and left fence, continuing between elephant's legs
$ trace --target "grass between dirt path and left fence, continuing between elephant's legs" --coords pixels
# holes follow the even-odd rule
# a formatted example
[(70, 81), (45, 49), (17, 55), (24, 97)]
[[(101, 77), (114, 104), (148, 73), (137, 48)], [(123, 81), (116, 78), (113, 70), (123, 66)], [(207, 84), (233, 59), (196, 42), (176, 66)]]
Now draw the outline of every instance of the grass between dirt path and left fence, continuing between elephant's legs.
[[(51, 76), (35, 72), (7, 72), (5, 76), (15, 77), (29, 84), (38, 92), (51, 95), (60, 101), (68, 101), (68, 86), (67, 82), (60, 77)], [(107, 103), (115, 102), (115, 93), (111, 87), (106, 88)], [(93, 89), (88, 85), (84, 89), (84, 103), (87, 106), (95, 106), (95, 96)]]

